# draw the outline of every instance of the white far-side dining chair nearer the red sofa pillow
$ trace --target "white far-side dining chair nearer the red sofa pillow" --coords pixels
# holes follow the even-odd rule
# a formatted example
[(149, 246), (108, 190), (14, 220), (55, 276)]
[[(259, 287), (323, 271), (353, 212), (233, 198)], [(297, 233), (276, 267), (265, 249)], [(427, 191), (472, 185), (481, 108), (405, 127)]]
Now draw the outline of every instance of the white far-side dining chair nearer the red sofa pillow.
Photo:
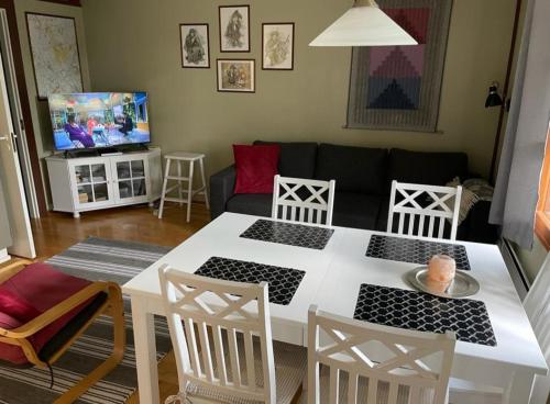
[(275, 176), (272, 217), (332, 225), (336, 181)]

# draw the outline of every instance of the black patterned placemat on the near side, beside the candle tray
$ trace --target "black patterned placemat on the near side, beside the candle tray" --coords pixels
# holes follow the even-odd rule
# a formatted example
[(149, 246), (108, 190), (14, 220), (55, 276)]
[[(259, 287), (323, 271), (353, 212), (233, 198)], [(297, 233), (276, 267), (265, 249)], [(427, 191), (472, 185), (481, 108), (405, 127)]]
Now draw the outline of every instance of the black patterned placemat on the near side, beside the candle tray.
[(485, 303), (363, 283), (354, 318), (392, 327), (443, 334), (465, 343), (496, 346)]

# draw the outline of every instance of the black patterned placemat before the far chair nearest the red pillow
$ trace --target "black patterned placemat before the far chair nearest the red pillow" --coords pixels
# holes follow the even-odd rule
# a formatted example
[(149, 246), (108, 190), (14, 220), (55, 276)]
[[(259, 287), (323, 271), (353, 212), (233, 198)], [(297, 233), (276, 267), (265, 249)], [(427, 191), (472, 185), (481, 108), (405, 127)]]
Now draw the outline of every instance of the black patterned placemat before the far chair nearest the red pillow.
[(254, 222), (246, 228), (241, 237), (260, 242), (286, 244), (295, 247), (323, 249), (329, 243), (334, 229), (305, 226), (297, 223), (266, 221), (263, 218)]

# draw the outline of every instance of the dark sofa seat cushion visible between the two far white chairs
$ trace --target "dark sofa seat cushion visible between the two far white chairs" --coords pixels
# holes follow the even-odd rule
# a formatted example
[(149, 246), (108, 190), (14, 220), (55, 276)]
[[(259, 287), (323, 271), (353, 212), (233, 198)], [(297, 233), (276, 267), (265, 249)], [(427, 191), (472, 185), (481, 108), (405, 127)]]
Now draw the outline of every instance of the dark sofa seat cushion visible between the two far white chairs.
[(334, 195), (334, 226), (375, 229), (382, 197), (364, 193), (337, 192)]

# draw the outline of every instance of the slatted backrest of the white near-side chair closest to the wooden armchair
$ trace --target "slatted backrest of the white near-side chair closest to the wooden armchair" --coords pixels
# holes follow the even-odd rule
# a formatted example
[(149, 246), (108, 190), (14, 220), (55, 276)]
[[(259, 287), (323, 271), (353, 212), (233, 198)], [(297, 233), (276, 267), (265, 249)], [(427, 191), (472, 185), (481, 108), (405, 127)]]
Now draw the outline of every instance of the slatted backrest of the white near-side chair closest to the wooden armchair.
[[(267, 283), (221, 281), (167, 266), (160, 269), (160, 278), (179, 385), (191, 382), (220, 394), (274, 404)], [(209, 344), (209, 332), (213, 345)], [(256, 385), (253, 336), (260, 338), (263, 388)], [(243, 344), (238, 344), (240, 338)], [(245, 358), (243, 363), (240, 354)], [(246, 380), (241, 374), (246, 374)]]

